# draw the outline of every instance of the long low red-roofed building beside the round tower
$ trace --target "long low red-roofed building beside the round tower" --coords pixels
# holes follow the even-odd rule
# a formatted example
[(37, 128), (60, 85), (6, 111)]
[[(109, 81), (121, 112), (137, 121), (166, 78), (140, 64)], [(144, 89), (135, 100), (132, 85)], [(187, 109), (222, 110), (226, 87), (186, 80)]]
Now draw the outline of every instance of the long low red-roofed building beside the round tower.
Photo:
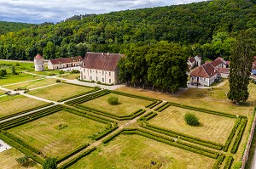
[(83, 65), (83, 58), (81, 56), (76, 56), (71, 58), (49, 59), (47, 65), (49, 70), (81, 66)]

